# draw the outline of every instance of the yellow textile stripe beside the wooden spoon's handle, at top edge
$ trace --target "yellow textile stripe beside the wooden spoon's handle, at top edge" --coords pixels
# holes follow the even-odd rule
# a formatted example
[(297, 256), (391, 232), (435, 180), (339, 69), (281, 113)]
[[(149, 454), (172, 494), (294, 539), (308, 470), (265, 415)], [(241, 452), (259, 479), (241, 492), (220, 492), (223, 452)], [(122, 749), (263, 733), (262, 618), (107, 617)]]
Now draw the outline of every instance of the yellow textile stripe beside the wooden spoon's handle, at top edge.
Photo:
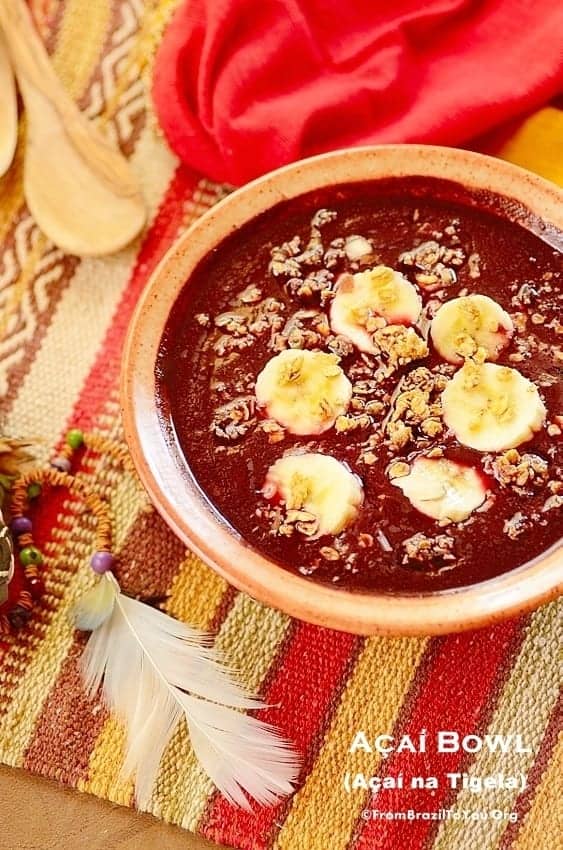
[(88, 83), (104, 46), (109, 29), (110, 0), (66, 0), (64, 16), (57, 34), (53, 65), (65, 89), (78, 100)]

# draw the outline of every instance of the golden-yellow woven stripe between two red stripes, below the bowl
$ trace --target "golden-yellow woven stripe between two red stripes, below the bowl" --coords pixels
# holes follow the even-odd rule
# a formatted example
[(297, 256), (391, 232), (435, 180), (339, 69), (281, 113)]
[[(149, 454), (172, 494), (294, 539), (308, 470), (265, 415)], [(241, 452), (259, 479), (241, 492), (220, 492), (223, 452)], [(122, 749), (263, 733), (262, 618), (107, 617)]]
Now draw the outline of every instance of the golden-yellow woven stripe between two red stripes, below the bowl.
[[(371, 638), (358, 659), (326, 735), (313, 770), (299, 793), (278, 835), (276, 850), (344, 850), (360, 809), (361, 792), (349, 796), (342, 780), (347, 770), (365, 771), (366, 754), (350, 753), (358, 731), (389, 733), (427, 645), (427, 639)], [(369, 756), (369, 773), (375, 773), (380, 756)]]

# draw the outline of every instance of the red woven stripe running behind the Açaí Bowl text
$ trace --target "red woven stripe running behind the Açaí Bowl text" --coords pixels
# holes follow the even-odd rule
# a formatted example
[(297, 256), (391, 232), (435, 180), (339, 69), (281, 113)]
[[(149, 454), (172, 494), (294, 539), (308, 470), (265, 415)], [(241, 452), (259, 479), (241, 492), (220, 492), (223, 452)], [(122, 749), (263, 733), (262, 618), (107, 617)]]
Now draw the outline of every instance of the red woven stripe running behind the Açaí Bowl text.
[[(467, 754), (438, 753), (438, 731), (452, 730), (460, 739), (475, 734), (514, 639), (521, 620), (510, 620), (477, 632), (449, 635), (442, 641), (427, 678), (421, 683), (404, 727), (396, 739), (410, 735), (413, 742), (426, 730), (427, 752), (394, 753), (385, 762), (382, 776), (404, 777), (403, 789), (381, 790), (374, 794), (368, 809), (380, 812), (435, 812), (452, 798), (446, 774), (456, 773), (467, 762)], [(377, 730), (374, 730), (377, 733)], [(502, 731), (502, 730), (499, 730)], [(366, 753), (369, 773), (369, 754)], [(409, 788), (413, 776), (434, 776), (435, 790)], [(421, 850), (434, 825), (430, 820), (367, 820), (354, 843), (355, 850)]]

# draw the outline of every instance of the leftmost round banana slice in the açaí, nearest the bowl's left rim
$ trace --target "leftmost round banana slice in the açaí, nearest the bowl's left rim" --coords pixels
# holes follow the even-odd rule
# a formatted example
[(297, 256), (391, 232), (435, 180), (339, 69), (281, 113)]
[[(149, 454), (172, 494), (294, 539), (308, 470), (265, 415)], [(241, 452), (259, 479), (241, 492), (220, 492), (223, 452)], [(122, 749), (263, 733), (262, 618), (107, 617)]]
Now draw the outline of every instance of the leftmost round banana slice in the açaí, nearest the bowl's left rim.
[(292, 434), (322, 434), (346, 413), (352, 384), (336, 354), (288, 349), (256, 379), (258, 407)]

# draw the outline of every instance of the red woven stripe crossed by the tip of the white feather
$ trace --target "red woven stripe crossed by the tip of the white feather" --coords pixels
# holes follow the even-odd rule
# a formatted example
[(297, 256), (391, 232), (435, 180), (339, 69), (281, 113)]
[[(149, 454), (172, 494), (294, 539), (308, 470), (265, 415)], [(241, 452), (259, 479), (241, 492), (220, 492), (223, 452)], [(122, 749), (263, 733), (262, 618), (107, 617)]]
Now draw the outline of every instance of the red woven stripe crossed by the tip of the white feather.
[[(323, 722), (335, 707), (335, 692), (340, 693), (358, 643), (353, 635), (296, 622), (285, 657), (263, 694), (272, 707), (261, 711), (260, 718), (293, 741), (305, 762), (318, 743)], [(217, 796), (199, 831), (212, 841), (236, 845), (239, 850), (263, 850), (270, 845), (275, 822), (283, 817), (286, 807), (285, 802), (272, 808), (255, 806), (254, 813), (249, 814)]]

